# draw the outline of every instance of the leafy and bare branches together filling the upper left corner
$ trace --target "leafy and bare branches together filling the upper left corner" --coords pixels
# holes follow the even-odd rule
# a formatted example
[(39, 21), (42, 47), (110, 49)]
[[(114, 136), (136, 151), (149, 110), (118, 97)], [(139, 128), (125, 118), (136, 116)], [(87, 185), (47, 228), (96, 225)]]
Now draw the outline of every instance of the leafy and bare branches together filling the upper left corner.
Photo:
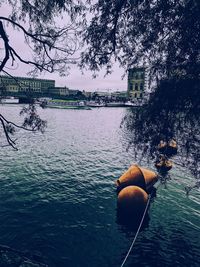
[[(9, 16), (0, 16), (3, 43), (0, 71), (22, 62), (31, 65), (34, 72), (45, 70), (66, 74), (69, 64), (76, 62), (75, 53), (81, 44), (78, 39), (81, 23), (77, 19), (84, 10), (81, 1), (3, 0), (0, 6), (10, 10)], [(32, 58), (17, 51), (8, 35), (10, 27), (23, 33), (19, 36), (24, 36), (26, 50)]]

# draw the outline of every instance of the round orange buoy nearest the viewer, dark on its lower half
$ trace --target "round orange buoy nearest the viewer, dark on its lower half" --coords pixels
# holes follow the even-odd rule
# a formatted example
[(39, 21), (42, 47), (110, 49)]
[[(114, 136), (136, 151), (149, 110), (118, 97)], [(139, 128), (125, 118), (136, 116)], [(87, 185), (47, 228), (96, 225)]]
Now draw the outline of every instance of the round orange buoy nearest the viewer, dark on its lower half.
[(126, 215), (141, 214), (148, 201), (148, 194), (138, 186), (123, 188), (117, 198), (117, 206), (121, 213)]

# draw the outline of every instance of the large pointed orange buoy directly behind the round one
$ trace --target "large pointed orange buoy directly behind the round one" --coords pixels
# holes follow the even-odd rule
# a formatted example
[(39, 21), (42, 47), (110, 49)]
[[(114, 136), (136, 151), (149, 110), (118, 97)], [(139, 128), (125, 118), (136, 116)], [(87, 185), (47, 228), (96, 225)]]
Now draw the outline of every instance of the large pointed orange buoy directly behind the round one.
[(143, 190), (148, 190), (158, 180), (155, 172), (148, 169), (132, 165), (119, 179), (116, 181), (117, 190), (125, 188), (126, 186), (135, 185)]

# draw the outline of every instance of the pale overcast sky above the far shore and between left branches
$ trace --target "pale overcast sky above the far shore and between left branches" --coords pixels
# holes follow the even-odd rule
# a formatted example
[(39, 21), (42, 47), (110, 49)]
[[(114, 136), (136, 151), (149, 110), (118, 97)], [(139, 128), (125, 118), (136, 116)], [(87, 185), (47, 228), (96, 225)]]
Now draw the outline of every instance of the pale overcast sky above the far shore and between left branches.
[[(0, 7), (1, 16), (8, 16), (9, 7), (6, 5), (2, 5)], [(24, 58), (27, 55), (30, 55), (30, 51), (28, 51), (28, 47), (24, 44), (24, 38), (22, 33), (17, 30), (13, 30), (12, 28), (7, 31), (9, 35), (9, 40), (11, 45), (14, 44), (14, 47), (19, 55), (22, 55)], [(2, 43), (0, 42), (0, 46)], [(1, 53), (3, 50), (1, 50)], [(30, 70), (28, 65), (22, 64), (18, 62), (15, 63), (14, 67), (10, 67), (5, 69), (11, 75), (14, 76), (27, 76), (27, 72)], [(57, 73), (42, 73), (38, 78), (45, 79), (54, 79), (56, 81), (56, 86), (67, 86), (70, 89), (80, 89), (86, 91), (96, 91), (96, 90), (111, 90), (111, 91), (125, 91), (127, 90), (127, 75), (122, 79), (124, 74), (124, 70), (119, 68), (117, 64), (115, 64), (113, 68), (113, 73), (110, 75), (105, 75), (105, 70), (99, 72), (97, 78), (92, 78), (92, 73), (89, 71), (85, 71), (84, 75), (76, 66), (72, 66), (70, 74), (65, 77), (60, 77)]]

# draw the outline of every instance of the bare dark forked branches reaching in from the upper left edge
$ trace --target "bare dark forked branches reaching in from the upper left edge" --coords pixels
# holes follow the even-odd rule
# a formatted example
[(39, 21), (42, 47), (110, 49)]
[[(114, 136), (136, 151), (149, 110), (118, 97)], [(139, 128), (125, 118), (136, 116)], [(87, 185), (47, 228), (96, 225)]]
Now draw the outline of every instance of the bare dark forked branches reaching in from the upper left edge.
[[(24, 38), (26, 44), (33, 51), (35, 57), (33, 60), (24, 59), (16, 49), (9, 44), (9, 39), (6, 35), (5, 26), (3, 22), (8, 22), (13, 27), (17, 27), (24, 33)], [(7, 18), (0, 17), (0, 37), (4, 42), (5, 56), (0, 62), (0, 71), (6, 66), (9, 58), (12, 58), (12, 66), (15, 62), (15, 59), (18, 59), (24, 64), (29, 64), (35, 68), (34, 71), (39, 70), (54, 72), (63, 71), (67, 68), (69, 64), (74, 64), (77, 62), (80, 57), (73, 57), (75, 52), (80, 48), (80, 42), (78, 40), (77, 31), (78, 24), (69, 24), (63, 28), (53, 28), (53, 27), (44, 27), (36, 28), (35, 33), (30, 30), (26, 30), (24, 26), (17, 23), (16, 21)]]

